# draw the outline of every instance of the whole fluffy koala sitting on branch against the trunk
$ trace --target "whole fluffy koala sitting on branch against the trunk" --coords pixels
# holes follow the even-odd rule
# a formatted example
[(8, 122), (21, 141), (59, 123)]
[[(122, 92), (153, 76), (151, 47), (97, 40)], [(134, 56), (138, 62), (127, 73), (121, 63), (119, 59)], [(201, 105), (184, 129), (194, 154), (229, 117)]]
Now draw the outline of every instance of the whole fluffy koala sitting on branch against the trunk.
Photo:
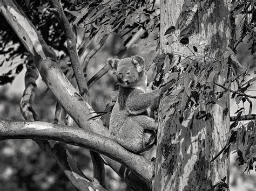
[(107, 60), (117, 75), (119, 95), (110, 118), (110, 135), (120, 145), (134, 153), (149, 150), (156, 139), (157, 123), (147, 109), (156, 102), (160, 89), (146, 92), (145, 60), (141, 56)]

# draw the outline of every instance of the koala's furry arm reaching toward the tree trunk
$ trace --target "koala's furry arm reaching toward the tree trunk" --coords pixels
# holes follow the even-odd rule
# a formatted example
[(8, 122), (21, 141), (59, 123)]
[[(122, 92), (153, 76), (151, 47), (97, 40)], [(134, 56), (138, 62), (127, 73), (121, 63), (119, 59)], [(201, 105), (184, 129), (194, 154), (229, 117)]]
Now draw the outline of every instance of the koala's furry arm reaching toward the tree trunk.
[(127, 97), (126, 109), (132, 115), (142, 114), (154, 102), (158, 101), (160, 94), (160, 89), (156, 89), (147, 93), (143, 93), (143, 91), (134, 89), (132, 93)]

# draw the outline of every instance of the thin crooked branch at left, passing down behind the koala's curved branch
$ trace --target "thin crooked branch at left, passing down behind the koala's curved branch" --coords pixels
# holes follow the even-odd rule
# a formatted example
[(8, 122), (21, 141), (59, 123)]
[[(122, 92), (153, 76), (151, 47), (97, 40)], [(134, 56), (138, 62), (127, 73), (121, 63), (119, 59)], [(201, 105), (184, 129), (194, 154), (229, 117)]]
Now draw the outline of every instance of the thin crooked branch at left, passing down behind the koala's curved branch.
[[(29, 58), (26, 68), (25, 90), (21, 98), (20, 108), (22, 115), (26, 120), (39, 121), (39, 116), (32, 107), (33, 99), (37, 90), (36, 79), (38, 78), (38, 72), (32, 59)], [(59, 114), (57, 116), (59, 116)], [(93, 182), (93, 184), (91, 180), (87, 178), (82, 171), (80, 171), (80, 168), (76, 164), (75, 160), (73, 160), (72, 155), (65, 144), (54, 142), (50, 145), (46, 140), (33, 140), (42, 148), (42, 150), (50, 154), (52, 158), (57, 161), (59, 167), (62, 168), (65, 175), (77, 190), (84, 190), (88, 187), (104, 189), (99, 184), (96, 185), (95, 182)]]

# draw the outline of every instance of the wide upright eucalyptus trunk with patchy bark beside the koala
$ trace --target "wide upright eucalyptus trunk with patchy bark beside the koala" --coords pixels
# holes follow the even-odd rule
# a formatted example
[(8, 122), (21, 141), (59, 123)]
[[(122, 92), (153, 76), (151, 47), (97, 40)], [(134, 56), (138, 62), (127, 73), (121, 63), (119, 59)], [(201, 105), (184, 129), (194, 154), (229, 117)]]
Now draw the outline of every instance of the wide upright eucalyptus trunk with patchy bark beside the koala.
[[(195, 60), (198, 59), (197, 63), (204, 68), (203, 70), (199, 67), (199, 73), (193, 74), (194, 76), (207, 73), (207, 64), (212, 66), (211, 72), (208, 72), (209, 78), (215, 83), (225, 84), (231, 67), (228, 67), (230, 63), (223, 53), (227, 47), (232, 48), (234, 35), (234, 19), (228, 2), (230, 1), (198, 3), (161, 0), (161, 51), (173, 53), (174, 57), (191, 55), (193, 61), (190, 63), (196, 63)], [(176, 42), (170, 46), (166, 45), (168, 36), (164, 34), (171, 26), (176, 29), (172, 34)], [(184, 32), (185, 29), (190, 32)], [(181, 31), (186, 33), (185, 36), (189, 39), (187, 45), (179, 43)], [(181, 63), (185, 58), (180, 58)], [(178, 68), (183, 70), (180, 65)], [(184, 88), (179, 102), (186, 102), (192, 97), (192, 91), (189, 92), (192, 79), (185, 79), (186, 82), (183, 80), (177, 87), (187, 87)], [(206, 79), (206, 82), (207, 80), (209, 79)], [(170, 115), (168, 112), (166, 114), (166, 110), (159, 111), (155, 190), (226, 189), (229, 181), (229, 158), (221, 154), (214, 161), (210, 161), (226, 143), (230, 126), (230, 94), (214, 94), (223, 89), (213, 82), (210, 94), (199, 93), (199, 99), (195, 101), (197, 107), (194, 104), (183, 111), (184, 103), (181, 103), (181, 108), (176, 107)], [(203, 80), (200, 83), (203, 83)], [(166, 96), (161, 100), (159, 108), (166, 104), (172, 108), (172, 100), (172, 95)]]

